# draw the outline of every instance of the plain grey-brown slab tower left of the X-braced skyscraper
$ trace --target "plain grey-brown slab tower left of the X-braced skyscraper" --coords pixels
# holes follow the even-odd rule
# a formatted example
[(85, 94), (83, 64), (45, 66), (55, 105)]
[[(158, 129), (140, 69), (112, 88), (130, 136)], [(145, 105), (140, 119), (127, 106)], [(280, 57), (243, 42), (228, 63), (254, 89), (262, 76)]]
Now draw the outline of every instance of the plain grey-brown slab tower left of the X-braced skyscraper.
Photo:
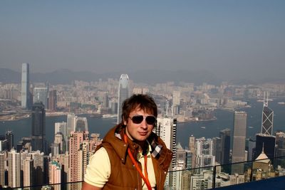
[[(245, 161), (245, 137), (247, 131), (247, 113), (234, 112), (234, 134), (232, 144), (232, 163)], [(243, 174), (243, 164), (233, 164), (232, 174)]]

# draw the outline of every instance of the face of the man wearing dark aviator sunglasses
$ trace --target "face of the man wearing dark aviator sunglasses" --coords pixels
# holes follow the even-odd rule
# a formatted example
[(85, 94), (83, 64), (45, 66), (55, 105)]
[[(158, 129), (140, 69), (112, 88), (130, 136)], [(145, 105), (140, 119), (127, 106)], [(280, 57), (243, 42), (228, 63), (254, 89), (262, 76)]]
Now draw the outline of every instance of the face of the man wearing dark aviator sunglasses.
[[(142, 122), (140, 122), (139, 124), (135, 124), (133, 120), (130, 119), (135, 115), (143, 115), (144, 119), (142, 120)], [(148, 115), (152, 115), (152, 114), (149, 114), (141, 110), (140, 107), (137, 107), (135, 110), (130, 112), (128, 120), (124, 121), (124, 125), (127, 126), (126, 133), (130, 139), (132, 140), (135, 139), (138, 141), (145, 141), (147, 137), (150, 136), (154, 125), (148, 125), (147, 122), (145, 121), (145, 117)]]

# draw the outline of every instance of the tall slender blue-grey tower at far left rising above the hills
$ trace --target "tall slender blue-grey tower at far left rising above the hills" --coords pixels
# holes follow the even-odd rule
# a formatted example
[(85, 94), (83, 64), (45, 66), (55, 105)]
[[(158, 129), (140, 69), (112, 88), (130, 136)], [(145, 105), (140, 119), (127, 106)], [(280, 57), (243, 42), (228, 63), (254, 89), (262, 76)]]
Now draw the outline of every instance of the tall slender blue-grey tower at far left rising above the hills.
[(22, 63), (22, 79), (21, 79), (21, 108), (28, 110), (30, 108), (30, 71), (28, 63)]

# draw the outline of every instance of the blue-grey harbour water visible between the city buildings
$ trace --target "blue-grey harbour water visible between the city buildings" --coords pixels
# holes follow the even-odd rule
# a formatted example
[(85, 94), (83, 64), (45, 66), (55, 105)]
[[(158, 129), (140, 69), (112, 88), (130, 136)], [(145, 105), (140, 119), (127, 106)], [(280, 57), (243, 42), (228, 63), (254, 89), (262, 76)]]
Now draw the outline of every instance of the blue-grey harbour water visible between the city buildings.
[[(269, 102), (269, 107), (274, 110), (274, 131), (285, 131), (285, 105), (278, 104), (278, 102), (284, 102), (284, 100), (273, 100)], [(251, 107), (244, 107), (242, 110), (247, 112), (247, 137), (254, 137), (254, 135), (261, 130), (263, 102), (248, 100), (248, 104), (251, 105)], [(232, 130), (234, 112), (215, 110), (214, 114), (217, 120), (178, 123), (177, 142), (180, 142), (182, 147), (187, 147), (190, 135), (196, 138), (218, 137), (220, 130), (225, 128)], [(116, 122), (116, 118), (99, 118), (90, 117), (89, 115), (82, 115), (82, 117), (87, 117), (89, 132), (100, 133), (100, 137), (102, 138)], [(53, 142), (55, 122), (66, 122), (66, 115), (46, 117), (46, 139), (48, 142)], [(31, 136), (31, 118), (0, 122), (0, 134), (5, 134), (6, 130), (13, 131), (14, 145), (16, 145), (16, 143), (21, 140), (21, 137)]]

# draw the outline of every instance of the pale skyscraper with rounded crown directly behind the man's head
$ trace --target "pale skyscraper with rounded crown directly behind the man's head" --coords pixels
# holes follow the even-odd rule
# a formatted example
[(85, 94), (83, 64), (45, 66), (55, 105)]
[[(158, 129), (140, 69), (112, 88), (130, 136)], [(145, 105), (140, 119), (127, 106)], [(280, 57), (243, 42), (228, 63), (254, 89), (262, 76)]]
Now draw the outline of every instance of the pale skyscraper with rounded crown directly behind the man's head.
[(117, 123), (122, 120), (122, 105), (125, 99), (130, 95), (129, 77), (127, 74), (120, 75), (118, 88), (118, 118)]

